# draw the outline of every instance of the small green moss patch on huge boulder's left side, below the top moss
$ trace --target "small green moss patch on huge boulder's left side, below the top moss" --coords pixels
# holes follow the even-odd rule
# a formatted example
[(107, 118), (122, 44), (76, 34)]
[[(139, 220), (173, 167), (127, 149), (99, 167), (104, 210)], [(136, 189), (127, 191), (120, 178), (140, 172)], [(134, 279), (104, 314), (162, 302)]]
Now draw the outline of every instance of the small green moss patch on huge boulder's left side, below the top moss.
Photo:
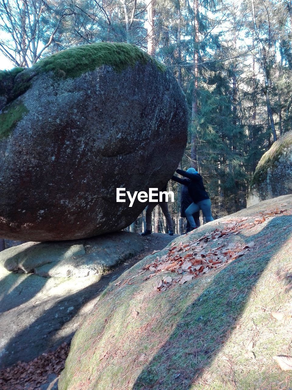
[(12, 103), (5, 107), (5, 111), (3, 111), (0, 115), (0, 140), (4, 137), (8, 137), (26, 113), (28, 113), (27, 108), (20, 102)]

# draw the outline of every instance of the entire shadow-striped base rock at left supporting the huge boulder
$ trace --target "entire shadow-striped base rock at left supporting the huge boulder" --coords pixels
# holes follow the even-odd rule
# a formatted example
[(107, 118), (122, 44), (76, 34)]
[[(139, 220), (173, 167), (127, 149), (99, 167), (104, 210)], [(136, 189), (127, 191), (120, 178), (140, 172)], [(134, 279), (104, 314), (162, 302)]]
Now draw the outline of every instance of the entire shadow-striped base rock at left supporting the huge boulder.
[(102, 274), (141, 252), (144, 242), (138, 234), (118, 232), (1, 252), (0, 367), (70, 341), (109, 282)]

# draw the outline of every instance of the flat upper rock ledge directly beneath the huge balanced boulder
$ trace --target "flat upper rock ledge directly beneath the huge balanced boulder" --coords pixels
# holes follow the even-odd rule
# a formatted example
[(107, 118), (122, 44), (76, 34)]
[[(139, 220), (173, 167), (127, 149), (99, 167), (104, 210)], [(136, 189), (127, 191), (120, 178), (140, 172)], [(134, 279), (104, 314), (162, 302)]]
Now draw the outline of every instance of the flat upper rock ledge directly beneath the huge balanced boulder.
[(0, 265), (7, 271), (43, 277), (87, 277), (103, 275), (142, 248), (142, 237), (128, 232), (84, 240), (28, 242), (1, 252)]

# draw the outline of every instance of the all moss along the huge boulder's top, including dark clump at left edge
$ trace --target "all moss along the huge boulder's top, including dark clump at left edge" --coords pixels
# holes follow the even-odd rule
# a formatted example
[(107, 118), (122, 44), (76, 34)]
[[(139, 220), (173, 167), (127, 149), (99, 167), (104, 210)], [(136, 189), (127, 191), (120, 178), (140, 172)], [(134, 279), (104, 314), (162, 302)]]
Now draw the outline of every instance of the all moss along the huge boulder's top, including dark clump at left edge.
[(62, 50), (42, 58), (28, 69), (16, 67), (0, 71), (0, 109), (25, 93), (31, 85), (30, 80), (40, 73), (52, 72), (54, 78), (76, 78), (103, 65), (111, 66), (120, 73), (129, 66), (148, 62), (162, 72), (166, 70), (145, 51), (127, 43), (98, 42)]

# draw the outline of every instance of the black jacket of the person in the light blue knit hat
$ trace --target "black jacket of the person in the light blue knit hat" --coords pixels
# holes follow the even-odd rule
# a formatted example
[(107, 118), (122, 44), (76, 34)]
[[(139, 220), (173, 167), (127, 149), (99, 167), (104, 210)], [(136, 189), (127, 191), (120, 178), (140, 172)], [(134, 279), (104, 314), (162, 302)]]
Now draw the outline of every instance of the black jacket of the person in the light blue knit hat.
[(190, 194), (190, 197), (194, 203), (200, 202), (204, 199), (209, 199), (209, 195), (205, 190), (203, 179), (200, 174), (185, 172), (181, 169), (177, 169), (176, 172), (181, 176), (187, 177), (187, 179), (181, 179), (180, 177), (172, 176), (172, 180), (175, 180), (178, 183), (188, 187), (188, 193)]

